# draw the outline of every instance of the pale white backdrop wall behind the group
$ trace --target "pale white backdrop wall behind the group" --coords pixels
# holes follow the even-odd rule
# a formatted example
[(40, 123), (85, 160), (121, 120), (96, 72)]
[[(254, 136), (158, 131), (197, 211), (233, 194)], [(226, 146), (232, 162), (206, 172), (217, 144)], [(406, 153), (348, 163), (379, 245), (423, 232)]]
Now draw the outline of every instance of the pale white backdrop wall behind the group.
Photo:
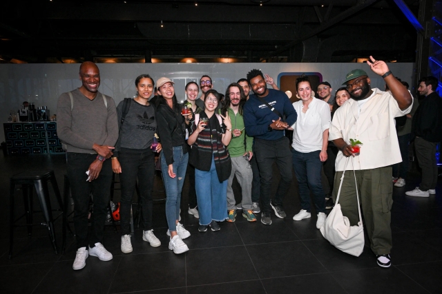
[[(389, 63), (395, 76), (412, 87), (414, 63)], [(227, 85), (245, 78), (247, 72), (258, 68), (278, 81), (282, 72), (319, 72), (336, 90), (345, 74), (361, 68), (372, 79), (372, 87), (384, 88), (383, 78), (369, 70), (366, 63), (99, 63), (101, 85), (99, 91), (112, 96), (118, 104), (124, 97), (135, 95), (135, 78), (150, 74), (154, 81), (167, 76), (175, 82), (178, 101), (184, 99), (184, 85), (199, 81), (203, 74), (211, 76), (213, 87), (224, 93)], [(81, 86), (79, 64), (1, 64), (0, 65), (0, 121), (6, 122), (11, 110), (17, 111), (23, 101), (36, 107), (46, 105), (50, 114), (57, 114), (57, 98), (61, 93)], [(411, 90), (411, 89), (410, 89)], [(0, 141), (4, 140), (3, 126)]]

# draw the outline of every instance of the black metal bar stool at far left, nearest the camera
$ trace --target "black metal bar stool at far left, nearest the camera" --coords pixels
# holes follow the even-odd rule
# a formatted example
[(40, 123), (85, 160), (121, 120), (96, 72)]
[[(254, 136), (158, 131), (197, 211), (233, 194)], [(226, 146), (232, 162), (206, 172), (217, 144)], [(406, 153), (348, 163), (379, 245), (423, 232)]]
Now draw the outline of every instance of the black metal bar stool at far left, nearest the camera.
[[(44, 215), (45, 222), (40, 223), (48, 228), (49, 238), (52, 242), (52, 246), (54, 247), (55, 254), (57, 252), (57, 243), (55, 241), (55, 231), (54, 231), (54, 218), (52, 218), (52, 208), (50, 205), (49, 198), (49, 190), (48, 190), (48, 182), (51, 183), (52, 189), (55, 192), (55, 197), (57, 198), (57, 202), (59, 204), (59, 209), (56, 211), (61, 211), (61, 213), (55, 218), (59, 218), (61, 214), (64, 214), (64, 206), (61, 200), (60, 191), (58, 189), (57, 180), (55, 179), (54, 171), (46, 170), (46, 171), (23, 171), (20, 174), (16, 174), (10, 178), (10, 246), (9, 246), (9, 258), (12, 256), (12, 246), (14, 244), (14, 229), (15, 227), (28, 227), (28, 235), (32, 235), (32, 226), (37, 225), (32, 223), (32, 213), (33, 204), (32, 204), (32, 186), (35, 187), (37, 191), (37, 196), (40, 202), (41, 212)], [(26, 224), (17, 225), (15, 222), (17, 220), (14, 216), (15, 210), (15, 190), (16, 186), (21, 185), (23, 190), (23, 202), (26, 209), (26, 212), (17, 218), (20, 220), (23, 216), (26, 216)], [(65, 224), (64, 224), (65, 225)], [(63, 230), (63, 238), (66, 238), (66, 230)]]

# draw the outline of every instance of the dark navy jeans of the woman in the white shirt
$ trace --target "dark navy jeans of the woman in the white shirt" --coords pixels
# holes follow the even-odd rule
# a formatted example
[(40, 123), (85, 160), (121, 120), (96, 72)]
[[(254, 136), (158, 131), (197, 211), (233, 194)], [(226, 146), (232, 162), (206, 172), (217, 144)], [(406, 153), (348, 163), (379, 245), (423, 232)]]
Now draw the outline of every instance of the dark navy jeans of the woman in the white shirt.
[(325, 195), (323, 185), (320, 182), (320, 171), (323, 162), (319, 159), (320, 150), (302, 153), (291, 149), (293, 167), (299, 185), (301, 208), (310, 212), (310, 190), (316, 213), (325, 212)]

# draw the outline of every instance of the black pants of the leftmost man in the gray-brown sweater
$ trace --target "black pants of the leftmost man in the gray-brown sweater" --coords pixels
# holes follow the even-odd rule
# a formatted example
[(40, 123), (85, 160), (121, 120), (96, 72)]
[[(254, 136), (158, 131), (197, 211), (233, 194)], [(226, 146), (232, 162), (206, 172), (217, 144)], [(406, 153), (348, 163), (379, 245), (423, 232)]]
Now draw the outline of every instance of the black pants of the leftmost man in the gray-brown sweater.
[[(96, 180), (87, 182), (86, 171), (97, 158), (97, 154), (68, 153), (68, 178), (74, 200), (74, 227), (77, 248), (95, 246), (102, 243), (104, 222), (108, 213), (109, 196), (111, 195), (112, 164), (111, 160), (103, 162), (102, 170)], [(88, 237), (88, 214), (90, 193), (93, 195), (92, 230)], [(87, 248), (86, 248), (87, 249)]]

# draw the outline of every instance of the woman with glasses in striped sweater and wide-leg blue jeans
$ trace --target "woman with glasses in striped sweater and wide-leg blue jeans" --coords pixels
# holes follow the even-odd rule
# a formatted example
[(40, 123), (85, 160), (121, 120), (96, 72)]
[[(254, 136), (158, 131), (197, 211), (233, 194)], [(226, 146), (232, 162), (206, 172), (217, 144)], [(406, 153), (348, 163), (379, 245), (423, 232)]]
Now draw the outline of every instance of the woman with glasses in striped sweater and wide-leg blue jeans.
[(200, 213), (198, 231), (219, 231), (227, 218), (227, 180), (231, 160), (227, 145), (231, 140), (229, 114), (215, 114), (221, 95), (209, 90), (204, 97), (204, 112), (195, 115), (187, 143), (192, 146), (189, 162), (195, 167), (195, 188)]

